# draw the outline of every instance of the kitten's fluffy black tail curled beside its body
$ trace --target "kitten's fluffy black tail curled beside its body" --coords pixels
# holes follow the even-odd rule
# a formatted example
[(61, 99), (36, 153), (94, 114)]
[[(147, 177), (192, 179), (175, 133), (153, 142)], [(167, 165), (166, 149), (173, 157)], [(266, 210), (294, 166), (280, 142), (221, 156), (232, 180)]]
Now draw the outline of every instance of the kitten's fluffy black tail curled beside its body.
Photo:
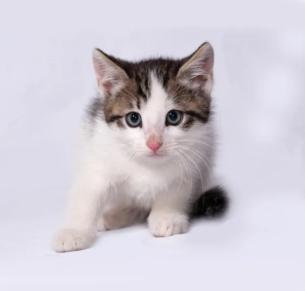
[(227, 191), (222, 187), (211, 188), (195, 202), (191, 216), (193, 218), (220, 218), (227, 212), (229, 202)]

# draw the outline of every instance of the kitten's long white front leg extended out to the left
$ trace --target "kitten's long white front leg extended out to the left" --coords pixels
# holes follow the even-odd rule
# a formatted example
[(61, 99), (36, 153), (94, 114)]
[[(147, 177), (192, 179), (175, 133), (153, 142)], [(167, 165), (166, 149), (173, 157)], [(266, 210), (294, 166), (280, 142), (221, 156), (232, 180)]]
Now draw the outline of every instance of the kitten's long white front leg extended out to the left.
[(55, 251), (82, 250), (93, 243), (101, 196), (105, 198), (107, 189), (108, 183), (92, 172), (86, 172), (76, 181), (65, 226), (57, 232), (52, 242)]

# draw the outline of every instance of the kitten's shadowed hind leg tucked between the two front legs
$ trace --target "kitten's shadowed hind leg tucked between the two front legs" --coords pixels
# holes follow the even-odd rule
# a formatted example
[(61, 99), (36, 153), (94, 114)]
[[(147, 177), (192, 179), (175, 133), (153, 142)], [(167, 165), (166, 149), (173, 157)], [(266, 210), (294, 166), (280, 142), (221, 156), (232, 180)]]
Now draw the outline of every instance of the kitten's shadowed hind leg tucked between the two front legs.
[(107, 210), (97, 222), (98, 231), (112, 230), (143, 223), (148, 212), (140, 208), (118, 206)]

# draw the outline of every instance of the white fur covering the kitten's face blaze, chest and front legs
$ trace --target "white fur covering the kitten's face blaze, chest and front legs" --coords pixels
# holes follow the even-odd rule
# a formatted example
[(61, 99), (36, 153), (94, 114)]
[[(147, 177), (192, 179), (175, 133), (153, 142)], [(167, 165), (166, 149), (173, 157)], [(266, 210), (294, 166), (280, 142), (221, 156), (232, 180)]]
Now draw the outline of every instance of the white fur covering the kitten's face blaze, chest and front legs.
[[(89, 134), (89, 126), (84, 127), (81, 165), (64, 228), (52, 243), (54, 250), (87, 248), (96, 235), (97, 223), (99, 230), (107, 228), (101, 213), (110, 208), (138, 208), (150, 213), (148, 227), (156, 237), (187, 231), (190, 202), (212, 187), (208, 160), (213, 155), (214, 130), (211, 122), (187, 132), (179, 126), (165, 126), (166, 114), (174, 104), (154, 74), (151, 86), (151, 96), (139, 112), (142, 128), (121, 130), (97, 121)], [(152, 136), (163, 143), (160, 153), (164, 157), (148, 156), (151, 150), (146, 141)]]

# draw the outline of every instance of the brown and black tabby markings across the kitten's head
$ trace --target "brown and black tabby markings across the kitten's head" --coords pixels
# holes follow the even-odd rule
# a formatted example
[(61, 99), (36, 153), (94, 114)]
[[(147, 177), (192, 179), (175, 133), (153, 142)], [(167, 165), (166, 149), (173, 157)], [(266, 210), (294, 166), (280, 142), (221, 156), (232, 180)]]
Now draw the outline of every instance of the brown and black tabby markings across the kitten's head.
[(178, 77), (179, 69), (193, 57), (194, 53), (179, 60), (159, 57), (139, 62), (128, 62), (104, 54), (126, 72), (127, 78), (115, 93), (109, 93), (104, 98), (99, 97), (88, 106), (87, 114), (90, 119), (103, 118), (108, 124), (116, 123), (119, 128), (125, 128), (125, 114), (132, 110), (140, 110), (149, 100), (151, 74), (154, 74), (175, 104), (176, 108), (173, 109), (186, 113), (185, 120), (181, 123), (184, 130), (188, 130), (195, 123), (208, 122), (211, 113), (210, 94), (181, 82)]

